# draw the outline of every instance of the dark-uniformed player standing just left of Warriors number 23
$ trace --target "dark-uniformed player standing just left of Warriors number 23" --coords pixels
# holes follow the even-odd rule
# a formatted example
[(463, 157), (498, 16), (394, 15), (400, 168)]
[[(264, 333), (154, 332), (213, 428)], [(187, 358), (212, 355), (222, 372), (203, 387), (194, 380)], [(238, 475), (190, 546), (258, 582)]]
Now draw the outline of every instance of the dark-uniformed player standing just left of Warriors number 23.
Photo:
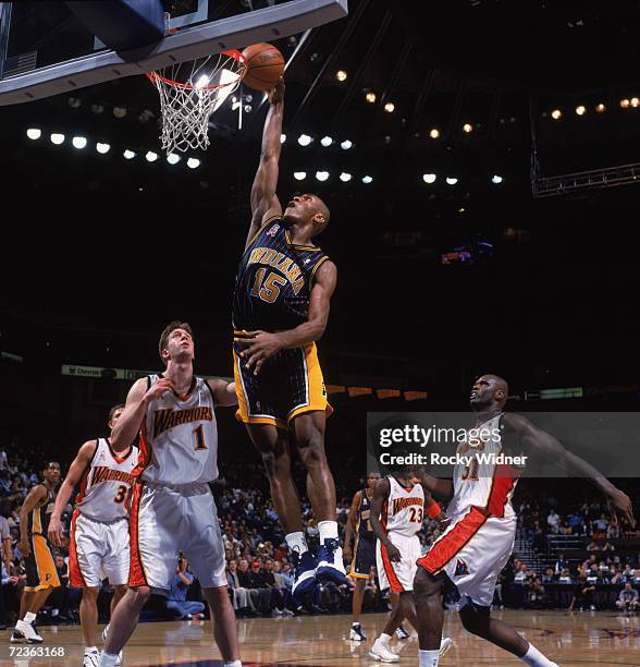
[[(370, 472), (367, 476), (367, 486), (355, 493), (344, 532), (344, 559), (345, 562), (352, 563), (349, 577), (356, 580), (356, 590), (354, 591), (352, 603), (352, 629), (349, 632), (349, 639), (356, 642), (362, 642), (367, 639), (360, 626), (360, 614), (362, 613), (365, 584), (369, 579), (371, 568), (376, 565), (377, 537), (370, 518), (373, 489), (379, 481), (380, 474)], [(354, 538), (356, 545), (352, 550)]]

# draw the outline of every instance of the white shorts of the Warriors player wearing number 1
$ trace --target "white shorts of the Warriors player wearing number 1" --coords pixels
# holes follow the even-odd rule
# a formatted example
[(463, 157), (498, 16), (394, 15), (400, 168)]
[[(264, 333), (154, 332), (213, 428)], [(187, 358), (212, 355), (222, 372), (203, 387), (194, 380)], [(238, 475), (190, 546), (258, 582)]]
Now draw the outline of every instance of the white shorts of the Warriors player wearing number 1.
[(204, 589), (226, 585), (218, 511), (207, 484), (169, 487), (137, 482), (130, 531), (130, 587), (150, 586), (167, 595), (179, 551)]

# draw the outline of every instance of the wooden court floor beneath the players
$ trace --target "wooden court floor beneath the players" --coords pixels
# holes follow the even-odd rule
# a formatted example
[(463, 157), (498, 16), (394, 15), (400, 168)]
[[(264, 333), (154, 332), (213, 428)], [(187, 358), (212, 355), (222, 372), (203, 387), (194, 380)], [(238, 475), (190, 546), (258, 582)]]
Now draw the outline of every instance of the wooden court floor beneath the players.
[[(614, 611), (495, 611), (497, 618), (516, 626), (525, 636), (562, 667), (581, 665), (640, 666), (640, 618)], [(362, 628), (372, 640), (384, 626), (382, 614), (365, 615)], [(350, 642), (348, 616), (251, 619), (238, 621), (243, 664), (251, 667), (275, 665), (299, 667), (380, 666), (367, 657), (371, 641)], [(522, 665), (520, 660), (493, 645), (468, 634), (457, 615), (445, 613), (445, 632), (454, 647), (442, 659), (443, 667), (454, 665)], [(82, 665), (82, 635), (77, 626), (41, 628), (40, 646), (10, 644), (10, 631), (2, 636), (0, 667)], [(26, 657), (10, 652), (15, 647), (63, 648), (63, 657)], [(398, 642), (395, 651), (401, 666), (417, 665), (417, 638)], [(180, 665), (181, 667), (221, 667), (211, 640), (208, 621), (140, 623), (124, 652), (124, 665)]]

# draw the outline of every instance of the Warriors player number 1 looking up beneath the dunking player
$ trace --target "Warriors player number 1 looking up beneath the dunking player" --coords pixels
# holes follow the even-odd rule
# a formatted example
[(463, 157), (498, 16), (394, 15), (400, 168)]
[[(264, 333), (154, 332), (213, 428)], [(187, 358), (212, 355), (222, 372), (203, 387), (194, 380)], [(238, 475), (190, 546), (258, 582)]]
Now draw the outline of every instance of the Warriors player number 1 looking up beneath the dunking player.
[(160, 337), (162, 375), (137, 380), (111, 434), (118, 453), (140, 434), (131, 508), (128, 586), (111, 617), (101, 667), (113, 667), (151, 592), (167, 595), (177, 553), (192, 563), (214, 619), (225, 667), (239, 667), (233, 606), (226, 592), (224, 547), (208, 482), (218, 476), (214, 408), (235, 405), (233, 383), (194, 376), (194, 337), (172, 322)]

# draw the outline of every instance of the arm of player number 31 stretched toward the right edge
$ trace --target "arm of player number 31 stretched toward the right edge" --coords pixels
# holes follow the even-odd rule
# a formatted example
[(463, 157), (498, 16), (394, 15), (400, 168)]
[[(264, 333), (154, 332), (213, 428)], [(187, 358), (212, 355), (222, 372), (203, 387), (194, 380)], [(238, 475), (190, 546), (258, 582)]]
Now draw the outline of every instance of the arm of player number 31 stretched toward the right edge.
[(565, 449), (552, 435), (537, 428), (521, 414), (507, 413), (504, 415), (503, 423), (507, 433), (515, 433), (520, 437), (520, 442), (528, 453), (555, 462), (558, 468), (570, 475), (589, 480), (595, 488), (608, 497), (614, 517), (619, 513), (627, 523), (635, 525), (633, 508), (629, 496), (614, 486), (593, 465)]

